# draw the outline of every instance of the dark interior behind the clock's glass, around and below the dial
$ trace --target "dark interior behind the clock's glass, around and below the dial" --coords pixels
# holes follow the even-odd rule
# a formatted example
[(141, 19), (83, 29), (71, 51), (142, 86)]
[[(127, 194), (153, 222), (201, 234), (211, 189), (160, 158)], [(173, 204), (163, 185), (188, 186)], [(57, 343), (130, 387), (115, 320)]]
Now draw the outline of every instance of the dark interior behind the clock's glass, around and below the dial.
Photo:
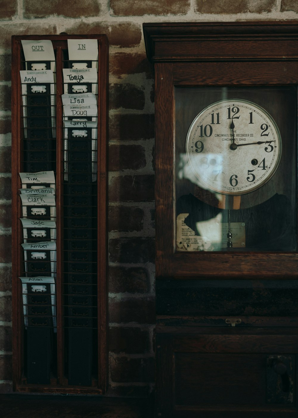
[[(176, 251), (297, 250), (296, 94), (296, 87), (175, 87)], [(189, 180), (185, 150), (194, 118), (210, 104), (229, 98), (263, 107), (278, 125), (282, 140), (275, 173), (260, 188), (238, 196), (234, 204), (237, 209), (233, 208), (235, 196), (225, 196), (227, 204), (220, 207), (218, 194)], [(237, 236), (232, 248), (227, 248), (229, 218), (231, 232), (234, 228)], [(205, 231), (210, 234), (211, 245), (206, 245)], [(197, 239), (200, 235), (202, 241)], [(191, 244), (193, 237), (197, 245)]]

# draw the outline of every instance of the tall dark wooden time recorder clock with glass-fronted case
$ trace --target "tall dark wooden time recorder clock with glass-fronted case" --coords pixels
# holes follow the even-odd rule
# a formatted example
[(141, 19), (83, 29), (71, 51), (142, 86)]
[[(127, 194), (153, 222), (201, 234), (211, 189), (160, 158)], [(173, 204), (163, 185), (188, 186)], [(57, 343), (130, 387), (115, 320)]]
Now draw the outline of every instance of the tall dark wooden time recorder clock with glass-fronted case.
[(296, 416), (298, 23), (146, 23), (144, 39), (156, 416)]

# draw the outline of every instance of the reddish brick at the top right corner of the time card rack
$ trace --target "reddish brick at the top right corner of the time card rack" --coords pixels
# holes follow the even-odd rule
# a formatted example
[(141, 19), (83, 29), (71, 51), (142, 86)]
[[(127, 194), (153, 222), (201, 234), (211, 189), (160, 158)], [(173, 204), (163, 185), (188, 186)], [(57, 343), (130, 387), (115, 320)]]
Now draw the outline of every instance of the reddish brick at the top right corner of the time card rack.
[(90, 35), (93, 33), (106, 34), (109, 38), (109, 44), (113, 46), (120, 46), (121, 48), (130, 48), (138, 46), (141, 42), (142, 34), (139, 25), (134, 23), (122, 22), (76, 22), (70, 27), (66, 28), (66, 33)]

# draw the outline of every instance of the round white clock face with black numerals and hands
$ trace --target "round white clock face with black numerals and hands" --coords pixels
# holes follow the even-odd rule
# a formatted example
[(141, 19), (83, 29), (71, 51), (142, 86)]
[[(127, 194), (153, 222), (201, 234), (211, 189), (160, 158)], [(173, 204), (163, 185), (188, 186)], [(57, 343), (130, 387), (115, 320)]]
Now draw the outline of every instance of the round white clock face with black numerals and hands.
[(273, 118), (253, 102), (225, 99), (195, 117), (187, 161), (202, 188), (240, 195), (263, 186), (278, 167), (282, 143)]

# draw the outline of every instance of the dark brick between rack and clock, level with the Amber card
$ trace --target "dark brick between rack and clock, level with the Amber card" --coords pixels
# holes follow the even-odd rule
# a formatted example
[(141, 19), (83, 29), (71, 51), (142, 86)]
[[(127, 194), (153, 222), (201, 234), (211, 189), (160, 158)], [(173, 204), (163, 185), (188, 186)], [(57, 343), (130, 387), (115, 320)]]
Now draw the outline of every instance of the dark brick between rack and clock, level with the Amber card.
[(110, 261), (115, 263), (153, 263), (155, 242), (152, 237), (114, 238), (110, 240)]

